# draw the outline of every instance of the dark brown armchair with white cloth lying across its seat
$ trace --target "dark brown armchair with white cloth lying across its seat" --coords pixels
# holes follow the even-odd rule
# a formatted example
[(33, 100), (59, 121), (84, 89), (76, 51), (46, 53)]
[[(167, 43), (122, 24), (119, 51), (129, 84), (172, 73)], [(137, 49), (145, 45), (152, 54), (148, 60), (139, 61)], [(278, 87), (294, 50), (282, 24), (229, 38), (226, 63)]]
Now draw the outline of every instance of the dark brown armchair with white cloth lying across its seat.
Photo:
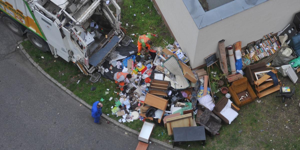
[[(227, 102), (228, 102), (228, 98), (226, 97), (223, 97), (222, 99), (220, 99), (217, 104), (214, 106), (214, 110), (212, 110), (212, 112), (214, 114), (216, 114), (220, 119), (222, 119), (222, 121), (225, 123), (225, 124), (229, 124), (229, 120), (224, 117), (220, 112), (223, 110), (223, 108), (227, 105)], [(231, 103), (231, 109), (238, 112), (240, 109), (235, 106), (235, 104)]]

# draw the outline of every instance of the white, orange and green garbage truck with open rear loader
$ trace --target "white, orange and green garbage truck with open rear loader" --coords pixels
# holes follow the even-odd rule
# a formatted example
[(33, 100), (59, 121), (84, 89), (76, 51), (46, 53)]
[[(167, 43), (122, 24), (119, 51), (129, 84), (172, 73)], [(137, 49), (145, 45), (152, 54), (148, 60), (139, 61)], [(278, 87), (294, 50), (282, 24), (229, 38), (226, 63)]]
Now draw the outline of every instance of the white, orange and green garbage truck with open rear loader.
[(121, 30), (120, 7), (110, 2), (115, 13), (106, 0), (0, 0), (0, 17), (41, 51), (92, 75), (117, 46), (131, 42)]

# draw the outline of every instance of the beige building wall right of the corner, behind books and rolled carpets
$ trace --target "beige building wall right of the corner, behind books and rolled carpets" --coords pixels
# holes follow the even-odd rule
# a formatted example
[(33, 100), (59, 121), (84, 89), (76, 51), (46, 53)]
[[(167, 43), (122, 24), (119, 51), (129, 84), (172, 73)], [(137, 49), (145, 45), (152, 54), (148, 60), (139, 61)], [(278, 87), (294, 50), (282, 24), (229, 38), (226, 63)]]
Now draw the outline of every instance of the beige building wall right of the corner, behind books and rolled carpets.
[[(222, 39), (225, 39), (225, 46), (241, 41), (243, 47), (263, 35), (279, 32), (292, 22), (295, 13), (299, 11), (299, 0), (269, 0), (199, 29), (195, 54), (189, 55), (193, 60), (190, 64), (193, 68), (205, 64), (206, 56), (213, 52), (218, 53), (218, 41)], [(165, 18), (167, 19), (166, 16)], [(172, 25), (169, 26), (172, 29)], [(176, 32), (173, 31), (175, 37), (178, 34)]]

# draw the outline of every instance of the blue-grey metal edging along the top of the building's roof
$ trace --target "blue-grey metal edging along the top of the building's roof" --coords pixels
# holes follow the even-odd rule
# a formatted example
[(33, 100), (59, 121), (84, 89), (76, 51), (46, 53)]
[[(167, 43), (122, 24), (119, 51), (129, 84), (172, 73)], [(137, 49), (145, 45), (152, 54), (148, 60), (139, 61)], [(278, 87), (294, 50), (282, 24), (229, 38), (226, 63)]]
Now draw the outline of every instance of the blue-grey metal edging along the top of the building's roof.
[[(246, 0), (234, 0), (206, 12), (204, 11), (203, 7), (201, 6), (198, 0), (182, 0), (182, 1), (184, 5), (187, 7), (187, 10), (192, 16), (198, 29), (201, 29), (205, 26), (209, 26), (215, 22), (233, 16), (237, 13), (240, 13), (244, 10), (247, 10), (249, 8), (252, 8), (256, 5), (262, 4), (263, 2), (269, 0), (249, 0), (247, 2)], [(232, 9), (230, 9), (230, 11), (227, 14), (223, 14), (219, 12), (220, 10), (224, 10), (225, 8), (233, 4), (235, 4), (235, 7), (231, 7)]]

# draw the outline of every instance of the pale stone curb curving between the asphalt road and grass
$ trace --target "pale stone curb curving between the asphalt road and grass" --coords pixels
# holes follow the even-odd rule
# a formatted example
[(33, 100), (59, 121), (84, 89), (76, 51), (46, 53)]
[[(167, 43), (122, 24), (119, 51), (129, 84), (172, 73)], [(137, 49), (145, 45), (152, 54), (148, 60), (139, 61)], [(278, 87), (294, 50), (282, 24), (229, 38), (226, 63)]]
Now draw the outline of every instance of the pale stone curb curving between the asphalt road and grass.
[[(24, 41), (27, 41), (28, 39), (25, 39)], [(46, 76), (48, 79), (50, 79), (55, 85), (57, 85), (59, 88), (61, 88), (61, 90), (65, 91), (68, 95), (70, 95), (72, 98), (74, 98), (76, 101), (78, 101), (79, 103), (81, 103), (82, 105), (84, 105), (86, 108), (90, 109), (92, 108), (91, 105), (87, 104), (85, 101), (83, 101), (81, 98), (79, 98), (78, 96), (76, 96), (72, 91), (70, 91), (69, 89), (67, 89), (66, 87), (64, 87), (62, 84), (60, 84), (58, 81), (56, 81), (54, 78), (52, 78), (48, 73), (46, 73), (31, 57), (30, 55), (25, 51), (25, 49), (22, 46), (23, 41), (19, 41), (18, 45), (19, 48), (21, 49), (21, 52), (28, 58), (29, 62), (31, 62), (31, 64), (36, 67), (44, 76)], [(127, 132), (130, 132), (132, 134), (135, 134), (137, 136), (139, 136), (140, 132), (133, 130), (129, 127), (126, 127), (125, 125), (123, 125), (122, 123), (110, 118), (109, 116), (102, 114), (102, 118), (104, 118), (105, 120), (108, 120), (109, 122), (113, 123), (114, 125), (118, 126), (121, 129), (124, 129)], [(172, 148), (172, 145), (168, 144), (168, 143), (164, 143), (160, 140), (154, 139), (154, 138), (149, 138), (149, 141), (151, 141), (152, 143), (156, 143), (158, 145), (164, 146), (167, 149), (178, 149), (178, 150), (184, 150), (181, 149), (179, 147), (174, 147)]]

